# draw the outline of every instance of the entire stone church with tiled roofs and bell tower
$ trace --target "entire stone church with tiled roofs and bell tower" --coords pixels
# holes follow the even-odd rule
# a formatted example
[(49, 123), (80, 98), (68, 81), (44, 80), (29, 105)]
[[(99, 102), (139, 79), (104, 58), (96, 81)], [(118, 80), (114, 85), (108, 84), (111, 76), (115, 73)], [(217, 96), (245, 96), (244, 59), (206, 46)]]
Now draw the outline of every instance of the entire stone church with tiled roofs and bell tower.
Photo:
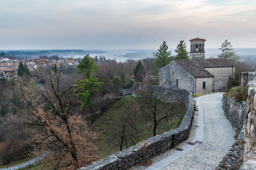
[[(205, 39), (190, 39), (189, 60), (172, 60), (159, 69), (159, 84), (191, 93), (223, 92), (235, 66), (225, 59), (205, 59)], [(167, 86), (167, 85), (166, 85)]]

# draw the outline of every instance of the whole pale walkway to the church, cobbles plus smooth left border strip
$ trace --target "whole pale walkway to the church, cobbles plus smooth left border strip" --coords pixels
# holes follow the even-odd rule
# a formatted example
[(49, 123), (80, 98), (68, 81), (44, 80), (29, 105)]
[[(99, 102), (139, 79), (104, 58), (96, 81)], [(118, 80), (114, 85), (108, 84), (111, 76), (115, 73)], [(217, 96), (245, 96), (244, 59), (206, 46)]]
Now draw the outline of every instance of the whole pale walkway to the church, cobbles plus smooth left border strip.
[(223, 93), (195, 98), (195, 120), (189, 139), (134, 169), (214, 169), (235, 142), (235, 131), (224, 115)]

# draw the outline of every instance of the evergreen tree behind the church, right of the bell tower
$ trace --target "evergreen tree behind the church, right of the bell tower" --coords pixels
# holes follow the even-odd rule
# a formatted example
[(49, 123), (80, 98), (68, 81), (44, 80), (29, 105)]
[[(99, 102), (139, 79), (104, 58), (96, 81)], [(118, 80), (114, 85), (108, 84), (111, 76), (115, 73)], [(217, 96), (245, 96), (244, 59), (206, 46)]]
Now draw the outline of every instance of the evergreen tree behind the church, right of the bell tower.
[(220, 59), (232, 60), (236, 61), (239, 60), (239, 56), (236, 54), (232, 44), (226, 39), (223, 43), (221, 43), (221, 54), (218, 55)]

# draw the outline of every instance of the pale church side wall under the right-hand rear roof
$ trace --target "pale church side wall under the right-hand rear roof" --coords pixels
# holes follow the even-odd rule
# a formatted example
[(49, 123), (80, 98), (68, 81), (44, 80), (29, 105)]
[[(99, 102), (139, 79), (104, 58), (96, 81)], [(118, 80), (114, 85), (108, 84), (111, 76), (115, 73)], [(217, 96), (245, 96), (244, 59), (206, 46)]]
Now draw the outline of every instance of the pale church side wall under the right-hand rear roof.
[(210, 67), (205, 69), (214, 75), (215, 92), (224, 92), (228, 82), (228, 77), (231, 75), (234, 76), (235, 73), (235, 67)]

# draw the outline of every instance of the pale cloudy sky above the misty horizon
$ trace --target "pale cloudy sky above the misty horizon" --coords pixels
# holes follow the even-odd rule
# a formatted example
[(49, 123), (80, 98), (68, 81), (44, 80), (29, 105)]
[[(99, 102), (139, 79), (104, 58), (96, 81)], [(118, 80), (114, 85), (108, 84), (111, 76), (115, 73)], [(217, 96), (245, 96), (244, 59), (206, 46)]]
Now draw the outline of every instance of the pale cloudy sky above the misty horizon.
[(255, 0), (1, 0), (0, 50), (256, 48)]

